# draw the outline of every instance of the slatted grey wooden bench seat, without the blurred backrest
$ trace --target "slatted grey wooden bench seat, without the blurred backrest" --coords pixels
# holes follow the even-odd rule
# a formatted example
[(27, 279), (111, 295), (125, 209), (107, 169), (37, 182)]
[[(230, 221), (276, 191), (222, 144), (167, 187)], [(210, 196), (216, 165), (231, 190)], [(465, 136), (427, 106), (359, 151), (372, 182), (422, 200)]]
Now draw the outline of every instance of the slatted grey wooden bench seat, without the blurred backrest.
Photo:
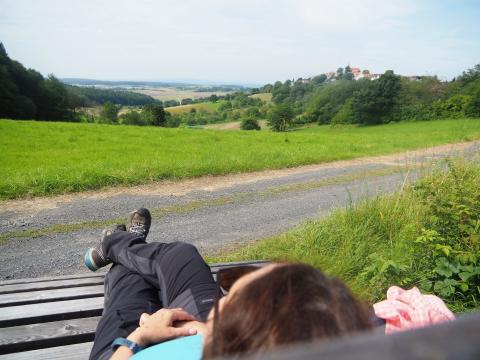
[[(212, 264), (219, 269), (265, 261)], [(0, 359), (88, 359), (105, 273), (0, 282)]]

